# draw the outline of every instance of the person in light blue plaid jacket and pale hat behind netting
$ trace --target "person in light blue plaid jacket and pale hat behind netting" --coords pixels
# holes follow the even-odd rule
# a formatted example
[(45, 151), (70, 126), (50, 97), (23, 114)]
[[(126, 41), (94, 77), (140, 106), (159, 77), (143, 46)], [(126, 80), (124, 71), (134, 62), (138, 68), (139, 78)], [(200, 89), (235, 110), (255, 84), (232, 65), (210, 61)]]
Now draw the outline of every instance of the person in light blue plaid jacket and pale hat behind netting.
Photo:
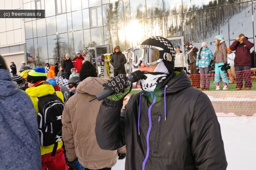
[(200, 70), (201, 78), (201, 90), (209, 90), (210, 88), (210, 77), (209, 77), (209, 67), (210, 60), (213, 56), (212, 51), (207, 47), (207, 42), (203, 42), (202, 48), (196, 57), (196, 68)]

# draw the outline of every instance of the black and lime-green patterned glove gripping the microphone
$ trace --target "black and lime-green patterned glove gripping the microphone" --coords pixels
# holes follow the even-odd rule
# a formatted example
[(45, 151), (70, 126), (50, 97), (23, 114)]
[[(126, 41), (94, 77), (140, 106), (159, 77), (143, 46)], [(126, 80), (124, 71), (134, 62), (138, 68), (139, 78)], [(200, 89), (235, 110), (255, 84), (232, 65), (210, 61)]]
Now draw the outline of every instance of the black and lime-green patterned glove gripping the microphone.
[(112, 92), (110, 96), (106, 97), (112, 101), (123, 100), (132, 89), (131, 81), (127, 81), (126, 75), (123, 74), (108, 80), (102, 86)]

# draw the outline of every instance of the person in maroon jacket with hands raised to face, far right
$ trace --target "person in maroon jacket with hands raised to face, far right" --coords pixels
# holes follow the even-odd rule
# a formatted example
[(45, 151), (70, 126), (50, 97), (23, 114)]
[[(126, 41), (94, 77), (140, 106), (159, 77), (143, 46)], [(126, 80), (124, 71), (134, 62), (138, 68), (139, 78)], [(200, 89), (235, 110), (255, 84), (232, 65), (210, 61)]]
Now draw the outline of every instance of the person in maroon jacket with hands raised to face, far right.
[[(245, 81), (244, 87), (246, 90), (252, 88), (251, 80), (251, 65), (252, 57), (250, 54), (250, 49), (254, 46), (248, 40), (248, 37), (245, 37), (244, 34), (239, 34), (231, 46), (230, 50), (235, 51), (235, 74), (236, 74), (236, 89), (241, 90), (243, 87), (243, 79)], [(244, 74), (244, 76), (243, 76)], [(244, 77), (244, 78), (243, 78)]]

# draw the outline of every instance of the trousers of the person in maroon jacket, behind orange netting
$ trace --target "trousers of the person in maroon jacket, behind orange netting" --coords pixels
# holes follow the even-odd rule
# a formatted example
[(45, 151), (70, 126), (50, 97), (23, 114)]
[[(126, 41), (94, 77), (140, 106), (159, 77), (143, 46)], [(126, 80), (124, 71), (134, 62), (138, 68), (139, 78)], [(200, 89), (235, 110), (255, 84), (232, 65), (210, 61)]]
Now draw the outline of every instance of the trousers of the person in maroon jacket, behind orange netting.
[(235, 66), (236, 87), (243, 88), (243, 74), (244, 74), (244, 87), (252, 88), (251, 66)]

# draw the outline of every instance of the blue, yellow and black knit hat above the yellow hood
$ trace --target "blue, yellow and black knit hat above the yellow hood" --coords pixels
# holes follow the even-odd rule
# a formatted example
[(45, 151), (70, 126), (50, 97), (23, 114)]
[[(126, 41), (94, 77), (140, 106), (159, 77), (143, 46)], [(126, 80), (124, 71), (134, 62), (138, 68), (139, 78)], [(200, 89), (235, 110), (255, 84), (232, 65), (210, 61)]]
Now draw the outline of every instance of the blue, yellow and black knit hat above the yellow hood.
[(27, 76), (27, 82), (35, 84), (38, 81), (46, 80), (46, 71), (42, 67), (37, 67), (31, 70)]

